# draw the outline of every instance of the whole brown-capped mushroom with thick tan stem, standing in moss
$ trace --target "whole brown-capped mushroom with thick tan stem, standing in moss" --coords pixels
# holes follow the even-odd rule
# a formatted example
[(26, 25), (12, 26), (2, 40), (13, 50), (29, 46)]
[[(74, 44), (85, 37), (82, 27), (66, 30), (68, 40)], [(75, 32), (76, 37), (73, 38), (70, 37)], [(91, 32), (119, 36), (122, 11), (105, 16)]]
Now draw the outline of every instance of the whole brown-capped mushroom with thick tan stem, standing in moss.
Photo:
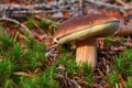
[(54, 33), (53, 41), (57, 44), (76, 42), (76, 62), (81, 65), (88, 62), (91, 69), (97, 62), (97, 37), (113, 34), (119, 28), (119, 20), (103, 14), (86, 14), (75, 16)]

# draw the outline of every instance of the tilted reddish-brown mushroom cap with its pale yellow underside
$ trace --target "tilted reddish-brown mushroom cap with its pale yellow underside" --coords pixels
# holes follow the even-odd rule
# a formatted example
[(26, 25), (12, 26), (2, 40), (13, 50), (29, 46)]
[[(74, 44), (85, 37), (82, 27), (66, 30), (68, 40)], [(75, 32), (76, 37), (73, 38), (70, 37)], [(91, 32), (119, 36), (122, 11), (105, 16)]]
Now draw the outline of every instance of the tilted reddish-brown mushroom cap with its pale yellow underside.
[(119, 20), (102, 14), (75, 16), (65, 22), (53, 35), (58, 44), (88, 37), (106, 37), (119, 29)]

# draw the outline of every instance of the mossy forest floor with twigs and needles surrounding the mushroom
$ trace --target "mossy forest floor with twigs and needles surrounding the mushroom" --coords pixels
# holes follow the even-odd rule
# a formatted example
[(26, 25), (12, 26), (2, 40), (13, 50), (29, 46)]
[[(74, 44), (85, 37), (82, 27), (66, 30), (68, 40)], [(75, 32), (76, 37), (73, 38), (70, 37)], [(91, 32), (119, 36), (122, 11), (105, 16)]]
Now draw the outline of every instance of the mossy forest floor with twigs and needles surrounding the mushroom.
[[(53, 34), (81, 14), (120, 20), (98, 38), (97, 66), (78, 66), (75, 43), (56, 46)], [(0, 88), (132, 88), (132, 0), (1, 0)]]

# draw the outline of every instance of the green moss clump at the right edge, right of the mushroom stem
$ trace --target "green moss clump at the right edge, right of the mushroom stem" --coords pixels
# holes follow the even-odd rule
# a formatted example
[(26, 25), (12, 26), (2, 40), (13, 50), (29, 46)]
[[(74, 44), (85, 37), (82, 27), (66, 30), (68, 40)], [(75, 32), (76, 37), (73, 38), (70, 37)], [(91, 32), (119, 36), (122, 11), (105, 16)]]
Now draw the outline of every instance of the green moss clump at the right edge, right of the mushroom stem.
[(122, 55), (116, 58), (114, 68), (125, 77), (132, 76), (132, 50), (125, 50)]

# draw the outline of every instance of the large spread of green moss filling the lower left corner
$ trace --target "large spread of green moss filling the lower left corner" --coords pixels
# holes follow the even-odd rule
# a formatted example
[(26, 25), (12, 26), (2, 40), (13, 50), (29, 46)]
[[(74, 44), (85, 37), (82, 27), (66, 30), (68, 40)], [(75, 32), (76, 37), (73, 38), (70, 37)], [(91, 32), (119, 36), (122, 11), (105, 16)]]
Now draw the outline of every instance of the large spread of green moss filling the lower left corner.
[[(31, 21), (31, 24), (33, 21)], [(43, 70), (43, 62), (46, 61), (46, 46), (33, 38), (26, 37), (19, 43), (10, 36), (0, 40), (0, 87), (1, 88), (61, 88), (54, 79), (55, 66)], [(63, 62), (65, 63), (65, 62)], [(33, 73), (40, 68), (35, 76), (25, 77), (14, 73)], [(42, 72), (43, 70), (43, 72)], [(16, 86), (14, 86), (14, 84)]]

